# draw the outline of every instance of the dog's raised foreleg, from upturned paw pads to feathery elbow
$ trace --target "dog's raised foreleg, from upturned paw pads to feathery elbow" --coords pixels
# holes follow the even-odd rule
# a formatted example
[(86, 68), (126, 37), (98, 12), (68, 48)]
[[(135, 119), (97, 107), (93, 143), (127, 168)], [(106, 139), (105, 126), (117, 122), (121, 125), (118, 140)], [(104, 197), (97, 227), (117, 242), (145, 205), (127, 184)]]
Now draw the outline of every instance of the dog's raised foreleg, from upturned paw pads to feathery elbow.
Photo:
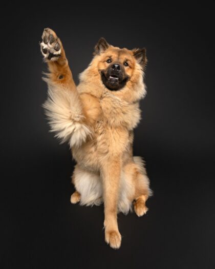
[(92, 131), (88, 125), (80, 96), (69, 68), (62, 43), (55, 32), (46, 28), (40, 43), (41, 53), (48, 64), (48, 98), (44, 104), (51, 131), (70, 147), (79, 147)]

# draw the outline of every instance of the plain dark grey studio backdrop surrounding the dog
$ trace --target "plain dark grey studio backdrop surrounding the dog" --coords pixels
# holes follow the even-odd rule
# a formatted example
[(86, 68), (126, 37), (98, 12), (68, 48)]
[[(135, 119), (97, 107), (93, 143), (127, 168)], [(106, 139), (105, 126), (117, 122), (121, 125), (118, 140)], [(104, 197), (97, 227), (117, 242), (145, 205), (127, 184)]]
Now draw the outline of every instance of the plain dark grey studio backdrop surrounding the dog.
[[(214, 268), (213, 16), (206, 2), (5, 4), (1, 268)], [(61, 38), (76, 82), (101, 36), (147, 49), (134, 154), (146, 160), (154, 196), (146, 216), (119, 214), (118, 251), (104, 243), (102, 206), (70, 203), (74, 162), (48, 132), (41, 108), (45, 27)]]

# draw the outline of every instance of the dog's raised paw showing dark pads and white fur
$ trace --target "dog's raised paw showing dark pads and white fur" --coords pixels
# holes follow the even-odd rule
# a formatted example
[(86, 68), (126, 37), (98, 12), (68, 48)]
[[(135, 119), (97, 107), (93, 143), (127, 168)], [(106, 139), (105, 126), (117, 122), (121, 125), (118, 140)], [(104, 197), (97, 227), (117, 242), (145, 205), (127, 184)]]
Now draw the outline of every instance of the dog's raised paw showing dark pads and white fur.
[(45, 61), (55, 61), (61, 57), (61, 42), (52, 29), (44, 29), (42, 41), (40, 42), (40, 50)]

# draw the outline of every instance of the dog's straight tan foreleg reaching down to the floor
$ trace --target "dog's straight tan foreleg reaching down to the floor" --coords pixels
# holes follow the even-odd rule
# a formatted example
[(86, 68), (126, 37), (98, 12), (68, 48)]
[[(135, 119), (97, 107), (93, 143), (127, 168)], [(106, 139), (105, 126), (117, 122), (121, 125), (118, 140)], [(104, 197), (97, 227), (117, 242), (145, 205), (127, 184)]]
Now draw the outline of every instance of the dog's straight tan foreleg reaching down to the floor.
[(121, 163), (119, 158), (107, 162), (102, 169), (105, 241), (113, 249), (119, 249), (121, 245), (121, 235), (117, 223), (120, 173)]

